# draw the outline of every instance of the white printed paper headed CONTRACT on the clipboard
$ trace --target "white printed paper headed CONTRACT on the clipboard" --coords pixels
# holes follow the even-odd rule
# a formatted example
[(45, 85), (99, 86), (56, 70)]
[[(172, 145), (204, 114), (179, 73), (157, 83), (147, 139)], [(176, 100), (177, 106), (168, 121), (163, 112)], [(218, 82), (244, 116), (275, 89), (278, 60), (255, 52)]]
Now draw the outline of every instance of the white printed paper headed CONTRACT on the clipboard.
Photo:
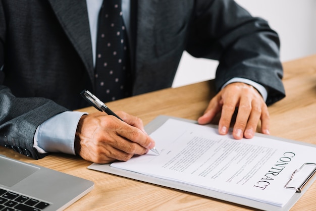
[[(314, 146), (270, 136), (235, 140), (231, 133), (219, 135), (217, 128), (176, 119), (150, 136), (160, 155), (149, 151), (111, 167), (282, 207), (296, 192), (284, 187), (293, 172), (316, 163)], [(299, 181), (313, 168), (304, 168)]]

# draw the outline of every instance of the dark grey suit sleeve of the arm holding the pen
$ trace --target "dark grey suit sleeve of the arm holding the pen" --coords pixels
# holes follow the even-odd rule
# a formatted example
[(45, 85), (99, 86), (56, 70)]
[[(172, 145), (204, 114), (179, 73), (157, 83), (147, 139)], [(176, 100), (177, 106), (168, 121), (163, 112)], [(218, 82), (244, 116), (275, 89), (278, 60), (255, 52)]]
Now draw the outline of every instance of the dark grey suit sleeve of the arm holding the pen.
[(15, 97), (3, 84), (7, 71), (5, 52), (9, 50), (6, 47), (5, 16), (0, 1), (0, 145), (39, 159), (45, 154), (40, 154), (33, 148), (37, 126), (66, 109), (46, 98)]

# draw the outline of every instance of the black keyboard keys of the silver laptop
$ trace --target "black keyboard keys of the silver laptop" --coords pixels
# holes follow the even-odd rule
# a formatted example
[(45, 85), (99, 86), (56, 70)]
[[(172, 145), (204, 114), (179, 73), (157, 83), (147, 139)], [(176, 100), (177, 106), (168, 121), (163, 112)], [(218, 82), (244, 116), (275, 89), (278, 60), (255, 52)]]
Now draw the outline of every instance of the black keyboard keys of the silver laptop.
[(1, 211), (40, 211), (47, 206), (49, 203), (0, 188)]

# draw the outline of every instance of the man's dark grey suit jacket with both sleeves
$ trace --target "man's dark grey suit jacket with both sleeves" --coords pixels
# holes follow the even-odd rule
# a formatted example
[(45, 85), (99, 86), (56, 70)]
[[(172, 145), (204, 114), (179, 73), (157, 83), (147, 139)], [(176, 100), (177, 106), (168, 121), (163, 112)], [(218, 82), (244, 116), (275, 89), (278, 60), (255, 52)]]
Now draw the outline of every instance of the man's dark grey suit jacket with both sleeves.
[[(231, 0), (131, 0), (133, 95), (172, 85), (183, 50), (220, 61), (216, 89), (242, 77), (285, 96), (279, 38)], [(36, 127), (94, 91), (86, 0), (0, 1), (0, 144), (38, 159)], [(192, 70), (198, 71), (198, 70)]]

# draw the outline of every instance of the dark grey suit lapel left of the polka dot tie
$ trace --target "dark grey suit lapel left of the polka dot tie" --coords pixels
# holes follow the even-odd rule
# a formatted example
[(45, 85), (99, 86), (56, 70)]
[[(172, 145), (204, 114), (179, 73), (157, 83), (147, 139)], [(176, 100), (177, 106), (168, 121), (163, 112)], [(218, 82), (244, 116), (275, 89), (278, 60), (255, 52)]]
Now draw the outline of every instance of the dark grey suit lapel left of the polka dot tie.
[(48, 2), (69, 40), (77, 50), (93, 82), (93, 58), (86, 1), (48, 0)]

